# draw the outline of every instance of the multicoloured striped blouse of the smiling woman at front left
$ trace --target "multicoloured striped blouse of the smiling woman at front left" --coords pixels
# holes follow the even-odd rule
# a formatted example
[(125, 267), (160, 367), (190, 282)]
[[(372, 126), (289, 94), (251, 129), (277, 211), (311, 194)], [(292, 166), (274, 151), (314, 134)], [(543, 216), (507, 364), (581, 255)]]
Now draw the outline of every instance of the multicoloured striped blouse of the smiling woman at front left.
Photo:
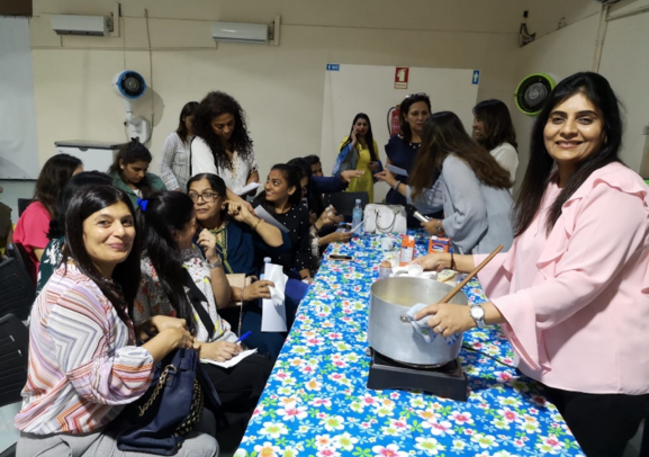
[(32, 307), (16, 428), (80, 434), (110, 423), (151, 384), (153, 357), (133, 344), (99, 287), (71, 263), (57, 268)]

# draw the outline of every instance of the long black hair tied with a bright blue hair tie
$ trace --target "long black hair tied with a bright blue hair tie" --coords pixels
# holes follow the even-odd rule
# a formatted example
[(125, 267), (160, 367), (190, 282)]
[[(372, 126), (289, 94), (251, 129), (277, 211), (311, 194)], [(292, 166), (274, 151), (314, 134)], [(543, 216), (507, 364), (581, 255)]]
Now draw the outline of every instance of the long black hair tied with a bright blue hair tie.
[(175, 232), (190, 223), (194, 203), (187, 194), (174, 190), (153, 192), (147, 200), (147, 209), (141, 213), (144, 249), (177, 317), (185, 319), (188, 330), (195, 334), (194, 313), (184, 289), (186, 272), (174, 239)]

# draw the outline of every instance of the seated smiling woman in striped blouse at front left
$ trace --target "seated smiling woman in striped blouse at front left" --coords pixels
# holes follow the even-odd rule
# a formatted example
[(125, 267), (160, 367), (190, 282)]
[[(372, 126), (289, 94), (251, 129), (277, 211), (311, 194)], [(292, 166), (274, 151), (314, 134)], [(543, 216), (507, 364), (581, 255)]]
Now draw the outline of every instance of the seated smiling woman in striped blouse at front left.
[[(32, 308), (18, 457), (125, 455), (114, 419), (147, 391), (157, 361), (193, 345), (181, 319), (156, 317), (134, 328), (139, 280), (129, 197), (112, 186), (79, 190), (66, 211), (63, 263)], [(136, 335), (146, 339), (153, 329), (158, 335), (135, 345)], [(214, 438), (192, 432), (176, 455), (217, 452)]]

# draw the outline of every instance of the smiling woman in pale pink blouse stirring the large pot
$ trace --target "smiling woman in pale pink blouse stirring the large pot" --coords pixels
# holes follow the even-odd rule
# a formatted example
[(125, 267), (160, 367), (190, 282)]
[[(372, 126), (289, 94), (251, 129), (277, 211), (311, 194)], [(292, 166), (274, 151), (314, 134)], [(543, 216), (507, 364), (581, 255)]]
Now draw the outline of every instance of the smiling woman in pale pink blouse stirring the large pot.
[[(532, 131), (516, 238), (478, 275), (491, 302), (433, 304), (437, 333), (502, 324), (588, 457), (622, 456), (649, 408), (649, 189), (618, 156), (622, 118), (604, 77), (559, 83)], [(484, 255), (433, 254), (468, 272)]]

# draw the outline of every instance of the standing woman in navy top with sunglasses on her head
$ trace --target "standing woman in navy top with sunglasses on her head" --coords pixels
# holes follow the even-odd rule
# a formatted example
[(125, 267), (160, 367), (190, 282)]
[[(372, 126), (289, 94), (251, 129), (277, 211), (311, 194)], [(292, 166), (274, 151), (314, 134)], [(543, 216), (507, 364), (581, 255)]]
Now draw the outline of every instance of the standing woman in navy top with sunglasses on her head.
[[(400, 133), (390, 137), (386, 144), (387, 164), (406, 170), (410, 176), (417, 152), (421, 146), (424, 122), (430, 116), (430, 98), (426, 94), (411, 94), (399, 105)], [(398, 183), (408, 183), (408, 176), (396, 175)], [(387, 192), (386, 203), (406, 205), (406, 198), (393, 187)], [(409, 227), (419, 227), (419, 221), (408, 217)]]

